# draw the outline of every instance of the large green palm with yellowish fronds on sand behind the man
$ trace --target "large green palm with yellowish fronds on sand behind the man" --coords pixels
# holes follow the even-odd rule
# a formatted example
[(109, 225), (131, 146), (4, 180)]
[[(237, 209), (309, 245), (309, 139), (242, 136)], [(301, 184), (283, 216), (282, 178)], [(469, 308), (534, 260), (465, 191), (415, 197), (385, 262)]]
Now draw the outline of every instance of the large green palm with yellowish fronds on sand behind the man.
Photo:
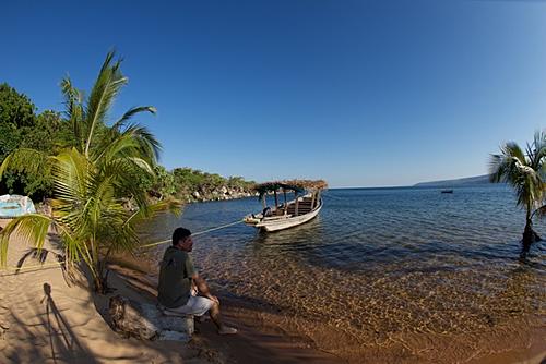
[[(100, 293), (107, 289), (106, 262), (110, 254), (132, 252), (139, 245), (136, 221), (159, 209), (178, 207), (171, 201), (150, 205), (146, 191), (134, 179), (139, 173), (153, 175), (159, 144), (145, 128), (130, 120), (155, 109), (132, 108), (110, 126), (107, 124), (112, 102), (128, 82), (120, 72), (121, 61), (114, 61), (114, 56), (107, 54), (86, 100), (70, 78), (61, 82), (72, 134), (57, 155), (21, 148), (0, 167), (0, 178), (7, 169), (45, 168), (54, 177), (51, 216), (31, 214), (13, 219), (0, 234), (1, 263), (5, 264), (11, 234), (20, 234), (41, 250), (52, 227), (60, 236), (67, 267), (74, 268), (83, 260)], [(123, 208), (128, 199), (136, 204), (134, 211)]]

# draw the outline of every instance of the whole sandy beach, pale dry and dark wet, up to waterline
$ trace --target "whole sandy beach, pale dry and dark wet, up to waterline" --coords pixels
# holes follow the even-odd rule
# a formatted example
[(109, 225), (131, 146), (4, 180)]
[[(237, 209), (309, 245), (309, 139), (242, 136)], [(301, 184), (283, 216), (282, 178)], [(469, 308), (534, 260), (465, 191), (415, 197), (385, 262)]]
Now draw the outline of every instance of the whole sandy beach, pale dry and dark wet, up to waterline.
[[(0, 221), (1, 226), (7, 220)], [(47, 248), (51, 248), (49, 242)], [(8, 266), (16, 265), (28, 248), (12, 239)], [(55, 263), (48, 257), (46, 265)], [(28, 259), (26, 265), (36, 265)], [(130, 270), (110, 276), (112, 294), (135, 300), (154, 300), (150, 284), (139, 284)], [(123, 275), (126, 271), (128, 275)], [(212, 323), (198, 324), (189, 344), (174, 341), (139, 341), (114, 332), (99, 314), (106, 296), (95, 296), (85, 287), (68, 287), (55, 267), (1, 271), (0, 363), (337, 363), (275, 327), (239, 318), (226, 310), (226, 320), (239, 328), (234, 337), (219, 337)]]

